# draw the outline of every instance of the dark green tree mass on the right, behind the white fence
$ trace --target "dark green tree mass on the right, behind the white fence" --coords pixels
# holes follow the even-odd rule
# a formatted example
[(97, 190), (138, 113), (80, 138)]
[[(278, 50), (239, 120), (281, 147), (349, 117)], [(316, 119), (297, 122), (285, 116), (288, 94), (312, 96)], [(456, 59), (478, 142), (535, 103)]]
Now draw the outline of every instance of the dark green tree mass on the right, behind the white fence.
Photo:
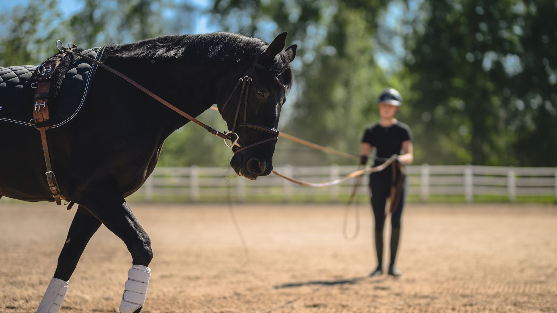
[(556, 165), (555, 3), (431, 0), (424, 9), (405, 60), (423, 159)]

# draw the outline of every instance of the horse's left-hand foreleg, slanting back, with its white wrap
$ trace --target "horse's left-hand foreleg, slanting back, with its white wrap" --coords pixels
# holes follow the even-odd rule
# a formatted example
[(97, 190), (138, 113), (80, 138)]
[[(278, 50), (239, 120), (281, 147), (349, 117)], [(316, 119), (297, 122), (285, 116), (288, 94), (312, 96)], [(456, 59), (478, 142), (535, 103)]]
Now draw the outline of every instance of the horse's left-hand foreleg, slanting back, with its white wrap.
[(70, 280), (87, 242), (99, 229), (99, 226), (101, 226), (101, 222), (96, 217), (92, 216), (84, 207), (77, 207), (66, 243), (58, 257), (56, 272), (46, 288), (37, 313), (56, 313), (60, 310), (68, 288), (67, 281)]

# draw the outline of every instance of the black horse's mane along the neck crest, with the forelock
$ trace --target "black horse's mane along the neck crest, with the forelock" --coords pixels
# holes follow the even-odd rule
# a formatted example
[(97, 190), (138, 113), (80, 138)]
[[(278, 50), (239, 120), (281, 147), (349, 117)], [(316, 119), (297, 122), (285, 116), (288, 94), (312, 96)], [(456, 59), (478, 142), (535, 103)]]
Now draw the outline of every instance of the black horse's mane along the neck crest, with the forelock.
[[(169, 35), (125, 45), (111, 45), (110, 57), (136, 60), (183, 60), (200, 65), (232, 65), (251, 63), (266, 42), (229, 32), (199, 35)], [(274, 75), (285, 74), (292, 85), (292, 71), (286, 53), (279, 53), (268, 70)]]

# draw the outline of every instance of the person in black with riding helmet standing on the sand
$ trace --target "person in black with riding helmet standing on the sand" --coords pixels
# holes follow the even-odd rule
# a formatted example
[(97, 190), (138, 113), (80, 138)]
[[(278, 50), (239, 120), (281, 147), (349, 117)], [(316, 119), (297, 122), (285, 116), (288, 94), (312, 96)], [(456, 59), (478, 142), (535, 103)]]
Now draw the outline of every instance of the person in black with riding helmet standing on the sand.
[[(408, 125), (394, 118), (402, 105), (402, 97), (398, 91), (388, 88), (385, 89), (377, 100), (379, 106), (379, 121), (365, 129), (364, 137), (361, 140), (360, 164), (366, 164), (368, 156), (375, 148), (374, 166), (382, 164), (392, 155), (398, 155), (397, 161), (400, 164), (411, 164), (413, 161), (412, 132)], [(394, 165), (394, 164), (393, 164)], [(375, 219), (375, 251), (377, 251), (377, 268), (370, 273), (370, 276), (383, 274), (383, 228), (385, 225), (385, 204), (390, 197), (392, 187), (397, 185), (398, 180), (402, 179), (402, 173), (397, 166), (394, 174), (390, 165), (381, 172), (370, 174), (369, 188)], [(397, 257), (398, 244), (400, 240), (400, 218), (404, 207), (404, 200), (408, 185), (401, 182), (397, 200), (393, 200), (395, 207), (391, 208), (390, 235), (390, 263), (389, 275), (400, 276), (395, 261)]]

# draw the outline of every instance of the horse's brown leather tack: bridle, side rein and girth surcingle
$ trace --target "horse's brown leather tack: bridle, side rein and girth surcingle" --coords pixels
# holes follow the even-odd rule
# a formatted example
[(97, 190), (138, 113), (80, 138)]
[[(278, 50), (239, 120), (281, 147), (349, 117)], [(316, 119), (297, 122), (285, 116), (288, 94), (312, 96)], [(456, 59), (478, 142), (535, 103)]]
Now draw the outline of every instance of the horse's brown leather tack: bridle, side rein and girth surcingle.
[[(58, 43), (61, 44), (61, 47), (58, 47)], [(35, 107), (34, 112), (35, 113), (34, 113), (34, 116), (33, 116), (33, 120), (35, 120), (35, 123), (36, 123), (36, 124), (34, 124), (35, 127), (37, 128), (37, 130), (39, 130), (41, 132), (43, 154), (45, 155), (45, 163), (46, 163), (46, 169), (47, 169), (47, 172), (45, 174), (47, 176), (48, 187), (50, 187), (51, 192), (52, 192), (52, 196), (54, 197), (54, 199), (56, 201), (56, 204), (58, 204), (58, 206), (60, 206), (60, 204), (61, 204), (60, 199), (67, 200), (67, 198), (63, 197), (63, 195), (60, 192), (60, 188), (58, 187), (58, 183), (56, 182), (56, 176), (54, 175), (54, 172), (53, 172), (52, 167), (51, 167), (50, 154), (48, 153), (48, 145), (47, 145), (47, 141), (46, 141), (46, 130), (50, 126), (49, 123), (48, 123), (48, 90), (50, 89), (51, 72), (56, 70), (56, 67), (60, 63), (61, 58), (63, 56), (65, 56), (67, 53), (72, 53), (74, 55), (80, 56), (84, 60), (87, 60), (91, 63), (95, 63), (96, 65), (102, 67), (103, 69), (108, 70), (109, 72), (113, 72), (114, 74), (122, 77), (124, 80), (128, 81), (131, 85), (134, 85), (135, 87), (138, 87), (138, 89), (145, 92), (145, 94), (148, 94), (149, 96), (153, 97), (155, 100), (159, 101), (160, 103), (164, 104), (165, 106), (168, 106), (170, 109), (172, 109), (176, 113), (184, 116), (184, 118), (187, 118), (188, 120), (193, 121), (193, 123), (196, 123), (197, 125), (202, 126), (209, 133), (211, 133), (215, 136), (219, 136), (220, 138), (224, 139), (224, 143), (228, 146), (228, 148), (234, 149), (234, 146), (237, 146), (239, 149), (237, 149), (236, 151), (233, 150), (234, 154), (236, 154), (240, 151), (246, 150), (248, 148), (251, 148), (252, 146), (256, 146), (258, 144), (266, 143), (267, 141), (278, 140), (279, 131), (277, 129), (271, 128), (271, 127), (268, 127), (268, 126), (264, 126), (264, 125), (247, 123), (247, 121), (246, 121), (247, 98), (248, 98), (248, 91), (249, 91), (249, 88), (250, 88), (250, 82), (252, 81), (251, 76), (253, 75), (253, 71), (255, 70), (256, 67), (258, 69), (262, 69), (262, 70), (267, 69), (265, 66), (261, 65), (260, 63), (257, 63), (258, 58), (261, 56), (261, 53), (266, 51), (267, 46), (262, 46), (260, 48), (260, 50), (257, 51), (256, 56), (255, 56), (253, 62), (251, 63), (251, 65), (250, 65), (250, 68), (246, 71), (246, 73), (243, 75), (243, 77), (241, 77), (240, 80), (238, 80), (238, 83), (236, 84), (236, 86), (232, 90), (230, 96), (228, 96), (228, 99), (226, 100), (226, 102), (224, 102), (224, 105), (222, 107), (223, 111), (224, 111), (224, 107), (226, 107), (226, 105), (228, 104), (228, 101), (230, 101), (230, 99), (232, 98), (232, 95), (234, 94), (234, 92), (236, 92), (236, 90), (238, 89), (238, 86), (240, 86), (240, 84), (242, 84), (242, 89), (241, 89), (241, 92), (240, 92), (240, 100), (238, 100), (238, 105), (236, 107), (236, 115), (234, 116), (234, 122), (232, 124), (232, 130), (228, 131), (226, 134), (221, 133), (220, 131), (212, 128), (211, 126), (203, 124), (201, 121), (199, 121), (196, 118), (194, 118), (193, 116), (185, 113), (184, 111), (178, 109), (178, 107), (175, 107), (174, 105), (170, 104), (170, 102), (168, 102), (168, 101), (162, 99), (161, 97), (155, 95), (152, 91), (149, 91), (145, 87), (141, 86), (140, 84), (138, 84), (134, 80), (130, 79), (128, 76), (126, 76), (126, 75), (122, 74), (121, 72), (113, 69), (112, 67), (107, 66), (104, 63), (101, 63), (101, 62), (95, 60), (94, 58), (91, 58), (89, 56), (86, 56), (86, 55), (83, 55), (79, 52), (74, 51), (74, 49), (77, 48), (77, 46), (75, 46), (73, 43), (70, 43), (68, 45), (68, 47), (66, 48), (66, 47), (63, 46), (63, 43), (60, 40), (58, 40), (56, 42), (56, 48), (58, 49), (59, 52), (55, 56), (53, 56), (51, 58), (48, 58), (47, 61), (43, 62), (37, 68), (37, 70), (46, 69), (46, 71), (48, 71), (49, 75), (45, 76), (45, 71), (43, 70), (42, 74), (40, 76), (39, 80), (42, 80), (42, 79), (46, 79), (46, 80), (45, 80), (45, 84), (41, 84), (40, 82), (38, 82), (38, 86), (40, 86), (40, 88), (37, 88), (37, 91), (36, 91), (35, 97), (34, 97), (35, 98), (35, 101), (34, 101), (35, 102), (34, 103), (34, 107)], [(287, 89), (288, 88), (288, 86), (285, 85), (285, 84), (282, 84), (282, 82), (280, 80), (278, 80), (275, 75), (273, 75), (273, 80), (275, 80), (277, 82), (277, 84), (280, 87), (282, 87), (282, 89)], [(46, 84), (46, 83), (48, 83), (48, 84)], [(244, 96), (244, 97), (242, 97), (242, 96)], [(238, 120), (238, 115), (240, 113), (240, 107), (242, 105), (242, 99), (244, 100), (244, 121), (243, 121), (243, 123), (241, 123), (239, 125), (236, 125), (237, 120)], [(39, 101), (42, 101), (42, 102), (39, 102)], [(261, 141), (255, 143), (255, 144), (250, 144), (250, 145), (244, 146), (242, 148), (240, 146), (240, 144), (238, 143), (238, 141), (240, 140), (240, 136), (238, 136), (238, 134), (236, 134), (236, 129), (241, 128), (241, 127), (247, 127), (247, 128), (252, 128), (252, 129), (265, 131), (266, 133), (270, 133), (273, 136), (271, 138), (261, 140)], [(234, 135), (235, 138), (232, 138), (232, 135)], [(231, 145), (228, 145), (228, 143), (226, 142), (227, 139), (232, 141)], [(71, 204), (70, 204), (70, 207), (68, 209), (70, 209), (70, 208), (71, 208)]]

